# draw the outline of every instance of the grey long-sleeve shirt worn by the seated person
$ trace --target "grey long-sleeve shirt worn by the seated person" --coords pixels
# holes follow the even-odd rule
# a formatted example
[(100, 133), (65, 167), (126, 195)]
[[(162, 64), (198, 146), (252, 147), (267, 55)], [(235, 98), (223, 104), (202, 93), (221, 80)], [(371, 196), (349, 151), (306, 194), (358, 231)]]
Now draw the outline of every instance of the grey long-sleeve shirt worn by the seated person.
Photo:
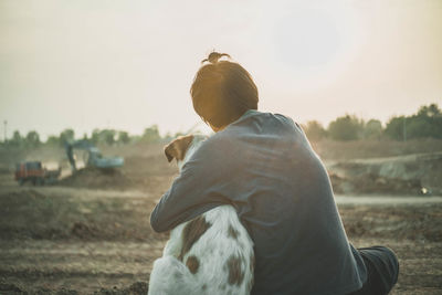
[(292, 119), (248, 110), (211, 136), (162, 196), (150, 224), (168, 231), (225, 203), (255, 244), (252, 294), (347, 294), (366, 281), (327, 172)]

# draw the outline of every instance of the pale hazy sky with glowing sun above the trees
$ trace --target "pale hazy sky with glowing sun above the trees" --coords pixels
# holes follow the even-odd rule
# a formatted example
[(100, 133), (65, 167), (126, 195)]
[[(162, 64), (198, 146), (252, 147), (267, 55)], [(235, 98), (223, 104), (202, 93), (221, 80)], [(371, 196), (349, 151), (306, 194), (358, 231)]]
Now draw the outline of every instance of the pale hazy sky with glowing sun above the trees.
[(299, 123), (442, 107), (441, 0), (2, 0), (0, 138), (207, 131), (189, 88), (212, 50)]

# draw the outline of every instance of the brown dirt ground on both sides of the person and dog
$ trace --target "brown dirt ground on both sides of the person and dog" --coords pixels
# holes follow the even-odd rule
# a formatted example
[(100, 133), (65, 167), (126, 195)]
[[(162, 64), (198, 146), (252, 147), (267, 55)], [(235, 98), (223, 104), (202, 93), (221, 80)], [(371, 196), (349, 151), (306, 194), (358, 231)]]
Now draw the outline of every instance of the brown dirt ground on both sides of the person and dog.
[[(2, 170), (0, 294), (146, 294), (167, 241), (148, 219), (177, 169), (158, 147), (123, 156), (117, 171), (86, 169), (46, 187), (19, 187)], [(392, 294), (442, 294), (441, 198), (404, 198), (412, 197), (398, 203), (339, 199), (338, 209), (356, 246), (397, 252)]]

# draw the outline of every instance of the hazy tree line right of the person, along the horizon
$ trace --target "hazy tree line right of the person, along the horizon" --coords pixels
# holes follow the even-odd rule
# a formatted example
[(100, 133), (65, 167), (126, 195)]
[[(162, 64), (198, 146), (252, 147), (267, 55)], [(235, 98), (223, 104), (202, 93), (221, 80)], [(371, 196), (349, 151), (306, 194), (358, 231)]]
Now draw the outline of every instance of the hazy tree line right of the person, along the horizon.
[(415, 138), (442, 139), (442, 112), (436, 104), (421, 106), (410, 116), (393, 116), (386, 126), (378, 119), (364, 120), (355, 115), (345, 115), (328, 124), (307, 122), (303, 129), (311, 140), (381, 139), (408, 140)]

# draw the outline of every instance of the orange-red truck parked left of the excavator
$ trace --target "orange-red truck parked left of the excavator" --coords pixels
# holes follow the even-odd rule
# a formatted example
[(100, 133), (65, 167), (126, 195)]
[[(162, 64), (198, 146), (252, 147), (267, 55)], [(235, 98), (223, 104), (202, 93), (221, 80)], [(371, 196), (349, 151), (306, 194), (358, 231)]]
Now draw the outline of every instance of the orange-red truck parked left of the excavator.
[(31, 181), (34, 186), (54, 182), (61, 175), (62, 169), (49, 170), (43, 167), (41, 161), (25, 161), (17, 164), (14, 179), (22, 186)]

